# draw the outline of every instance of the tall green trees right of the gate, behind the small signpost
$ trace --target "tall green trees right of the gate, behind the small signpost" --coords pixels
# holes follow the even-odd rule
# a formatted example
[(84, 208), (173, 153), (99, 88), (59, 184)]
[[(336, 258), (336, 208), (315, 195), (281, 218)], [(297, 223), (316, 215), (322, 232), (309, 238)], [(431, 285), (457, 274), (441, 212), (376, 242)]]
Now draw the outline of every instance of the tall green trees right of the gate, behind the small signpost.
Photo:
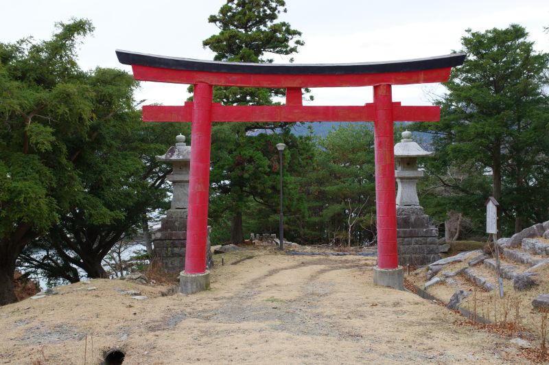
[(535, 51), (519, 25), (467, 30), (462, 45), (467, 60), (445, 84), (441, 122), (416, 125), (434, 133), (430, 193), (438, 197), (434, 207), (454, 207), (480, 222), (484, 200), (494, 196), (509, 235), (549, 218), (549, 54)]

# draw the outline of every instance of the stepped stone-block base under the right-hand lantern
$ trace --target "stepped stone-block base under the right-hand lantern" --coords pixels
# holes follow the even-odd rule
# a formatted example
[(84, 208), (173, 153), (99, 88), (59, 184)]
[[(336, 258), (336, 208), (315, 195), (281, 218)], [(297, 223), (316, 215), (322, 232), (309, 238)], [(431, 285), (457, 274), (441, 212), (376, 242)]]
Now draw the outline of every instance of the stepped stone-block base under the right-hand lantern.
[(441, 259), (439, 228), (429, 224), (423, 208), (397, 206), (397, 242), (399, 265), (422, 266)]

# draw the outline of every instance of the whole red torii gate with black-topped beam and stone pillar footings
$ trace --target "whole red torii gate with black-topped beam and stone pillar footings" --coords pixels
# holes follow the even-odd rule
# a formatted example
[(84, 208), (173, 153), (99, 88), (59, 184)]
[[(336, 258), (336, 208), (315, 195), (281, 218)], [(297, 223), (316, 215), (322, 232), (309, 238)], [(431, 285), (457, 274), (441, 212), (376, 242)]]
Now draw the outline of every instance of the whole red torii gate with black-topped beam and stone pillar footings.
[[(257, 64), (191, 60), (116, 51), (141, 81), (194, 84), (194, 101), (184, 106), (143, 106), (143, 121), (185, 121), (191, 127), (191, 171), (185, 272), (181, 290), (209, 287), (206, 237), (209, 197), (211, 123), (213, 121), (373, 121), (377, 267), (374, 282), (402, 289), (398, 266), (395, 204), (394, 121), (439, 121), (439, 106), (401, 106), (391, 85), (445, 82), (465, 54), (416, 60), (355, 64)], [(285, 106), (222, 106), (212, 102), (213, 86), (286, 89)], [(305, 87), (373, 86), (373, 103), (364, 106), (303, 106)]]

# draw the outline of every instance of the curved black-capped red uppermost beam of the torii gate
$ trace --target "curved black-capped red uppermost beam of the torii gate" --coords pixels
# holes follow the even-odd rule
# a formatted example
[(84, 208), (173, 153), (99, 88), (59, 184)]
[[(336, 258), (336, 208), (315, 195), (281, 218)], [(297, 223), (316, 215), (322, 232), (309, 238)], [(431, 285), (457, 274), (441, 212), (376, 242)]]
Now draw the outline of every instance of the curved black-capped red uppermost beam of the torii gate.
[(193, 60), (122, 50), (117, 50), (116, 54), (119, 62), (132, 65), (136, 80), (268, 88), (445, 82), (450, 69), (465, 60), (465, 54), (449, 54), (388, 62), (258, 64)]

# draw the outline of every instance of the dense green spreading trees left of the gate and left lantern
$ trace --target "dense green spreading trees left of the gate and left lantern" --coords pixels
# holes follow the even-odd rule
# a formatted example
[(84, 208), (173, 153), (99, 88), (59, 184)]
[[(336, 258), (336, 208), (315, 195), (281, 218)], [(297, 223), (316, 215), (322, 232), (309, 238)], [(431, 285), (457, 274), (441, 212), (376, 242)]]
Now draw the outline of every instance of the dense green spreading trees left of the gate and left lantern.
[(104, 276), (113, 244), (165, 207), (170, 167), (154, 155), (188, 127), (143, 124), (132, 75), (78, 66), (91, 23), (57, 27), (0, 43), (0, 274), (23, 251), (27, 269), (78, 281), (76, 267)]

